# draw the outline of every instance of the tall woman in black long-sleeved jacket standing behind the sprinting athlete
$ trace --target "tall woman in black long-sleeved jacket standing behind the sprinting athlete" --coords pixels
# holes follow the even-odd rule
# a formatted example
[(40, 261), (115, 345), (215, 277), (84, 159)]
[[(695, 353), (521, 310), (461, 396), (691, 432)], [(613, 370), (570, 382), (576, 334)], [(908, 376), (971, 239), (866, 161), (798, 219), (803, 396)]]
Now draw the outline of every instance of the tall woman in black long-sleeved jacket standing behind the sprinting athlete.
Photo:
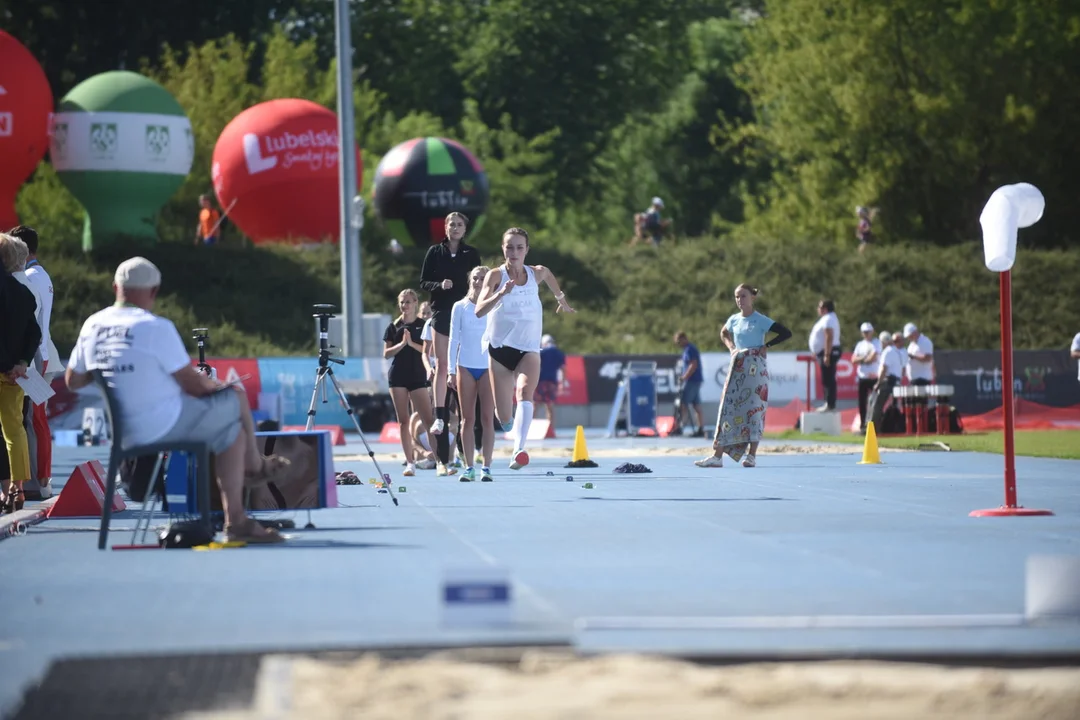
[(464, 242), (469, 219), (461, 213), (446, 216), (446, 237), (428, 248), (420, 270), (420, 289), (431, 294), (432, 329), (435, 340), (435, 422), (440, 462), (447, 463), (450, 447), (443, 437), (446, 427), (446, 376), (449, 375), (447, 348), (450, 342), (450, 311), (469, 291), (469, 273), (480, 262), (480, 253)]

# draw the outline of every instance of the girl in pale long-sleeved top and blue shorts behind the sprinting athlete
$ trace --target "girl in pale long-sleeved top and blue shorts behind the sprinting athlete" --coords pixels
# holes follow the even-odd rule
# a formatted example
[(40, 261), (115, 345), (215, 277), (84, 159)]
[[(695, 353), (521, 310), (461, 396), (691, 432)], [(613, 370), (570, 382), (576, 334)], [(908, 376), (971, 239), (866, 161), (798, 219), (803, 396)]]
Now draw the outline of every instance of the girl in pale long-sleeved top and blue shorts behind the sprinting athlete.
[(491, 452), (495, 450), (495, 396), (491, 394), (491, 383), (484, 376), (488, 372), (487, 345), (484, 335), (487, 321), (476, 316), (476, 300), (488, 268), (478, 266), (469, 272), (469, 294), (454, 303), (450, 311), (450, 345), (447, 351), (449, 361), (449, 379), (447, 385), (458, 389), (458, 402), (461, 405), (461, 445), (465, 462), (474, 463), (476, 459), (476, 435), (473, 427), (476, 424), (476, 395), (480, 394), (481, 424), (484, 427), (484, 465), (477, 471), (472, 464), (461, 474), (462, 483), (480, 479), (490, 483)]

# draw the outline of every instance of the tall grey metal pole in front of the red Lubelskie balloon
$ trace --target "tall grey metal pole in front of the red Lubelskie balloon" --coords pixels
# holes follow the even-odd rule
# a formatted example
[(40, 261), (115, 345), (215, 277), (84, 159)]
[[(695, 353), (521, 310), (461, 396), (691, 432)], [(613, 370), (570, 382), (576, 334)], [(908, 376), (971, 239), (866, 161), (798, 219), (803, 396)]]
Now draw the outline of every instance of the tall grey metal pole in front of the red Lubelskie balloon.
[(352, 40), (349, 0), (334, 0), (337, 41), (338, 204), (341, 249), (341, 344), (349, 357), (363, 353), (364, 298), (360, 268), (360, 231), (364, 200), (356, 188), (356, 123), (352, 105)]

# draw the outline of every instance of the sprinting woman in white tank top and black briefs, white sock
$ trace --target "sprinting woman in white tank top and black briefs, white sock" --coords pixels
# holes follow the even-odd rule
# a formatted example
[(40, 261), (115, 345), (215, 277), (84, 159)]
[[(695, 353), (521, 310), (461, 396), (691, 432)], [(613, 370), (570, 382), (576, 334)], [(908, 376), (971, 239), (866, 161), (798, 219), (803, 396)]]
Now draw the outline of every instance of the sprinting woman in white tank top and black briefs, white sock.
[(517, 391), (517, 413), (513, 418), (514, 458), (511, 470), (529, 463), (525, 440), (532, 423), (532, 393), (540, 379), (540, 338), (543, 335), (543, 305), (540, 283), (555, 294), (555, 312), (575, 312), (558, 289), (558, 281), (543, 266), (525, 264), (529, 252), (529, 234), (522, 228), (502, 233), (502, 257), (505, 263), (487, 273), (476, 316), (488, 316), (484, 342), (488, 347), (488, 375), (495, 396), (496, 415), (502, 429), (511, 426), (514, 389)]

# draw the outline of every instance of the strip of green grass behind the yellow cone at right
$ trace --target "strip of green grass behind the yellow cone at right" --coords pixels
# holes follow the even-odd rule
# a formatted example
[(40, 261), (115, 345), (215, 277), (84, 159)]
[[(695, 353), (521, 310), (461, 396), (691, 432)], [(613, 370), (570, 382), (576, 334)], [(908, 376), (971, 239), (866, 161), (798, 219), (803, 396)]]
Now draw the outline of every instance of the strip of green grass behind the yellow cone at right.
[[(814, 440), (820, 443), (849, 443), (862, 445), (858, 435), (840, 436), (811, 434), (802, 435), (797, 430), (782, 433), (766, 433), (770, 439)], [(1016, 431), (1016, 454), (1032, 458), (1062, 458), (1080, 460), (1080, 430), (1028, 430)], [(924, 435), (921, 437), (881, 437), (878, 445), (883, 448), (918, 448), (926, 443), (940, 440), (953, 450), (968, 452), (1004, 452), (1002, 433), (969, 433), (966, 435)]]

